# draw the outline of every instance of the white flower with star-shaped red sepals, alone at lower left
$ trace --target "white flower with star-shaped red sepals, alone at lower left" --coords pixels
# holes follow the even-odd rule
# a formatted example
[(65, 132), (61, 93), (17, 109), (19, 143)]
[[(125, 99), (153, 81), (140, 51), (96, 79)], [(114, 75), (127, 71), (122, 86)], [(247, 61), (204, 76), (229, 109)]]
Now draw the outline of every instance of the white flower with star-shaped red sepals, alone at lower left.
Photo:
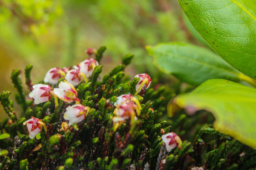
[(37, 119), (34, 117), (23, 122), (23, 125), (27, 125), (27, 130), (28, 130), (30, 139), (37, 136), (37, 134), (42, 131), (43, 127), (46, 130), (46, 124), (42, 121), (42, 119)]

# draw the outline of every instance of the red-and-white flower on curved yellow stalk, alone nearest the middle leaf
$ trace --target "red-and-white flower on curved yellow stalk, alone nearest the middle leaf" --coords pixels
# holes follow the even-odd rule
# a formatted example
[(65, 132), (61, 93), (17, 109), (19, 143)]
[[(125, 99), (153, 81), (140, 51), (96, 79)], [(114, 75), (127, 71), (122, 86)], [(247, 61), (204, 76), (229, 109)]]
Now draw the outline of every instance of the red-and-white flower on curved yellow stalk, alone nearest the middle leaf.
[(148, 74), (146, 74), (146, 73), (136, 75), (135, 78), (137, 78), (137, 77), (139, 77), (140, 79), (139, 79), (138, 84), (136, 85), (135, 95), (137, 95), (142, 90), (142, 88), (146, 90), (152, 82), (150, 76), (148, 76)]

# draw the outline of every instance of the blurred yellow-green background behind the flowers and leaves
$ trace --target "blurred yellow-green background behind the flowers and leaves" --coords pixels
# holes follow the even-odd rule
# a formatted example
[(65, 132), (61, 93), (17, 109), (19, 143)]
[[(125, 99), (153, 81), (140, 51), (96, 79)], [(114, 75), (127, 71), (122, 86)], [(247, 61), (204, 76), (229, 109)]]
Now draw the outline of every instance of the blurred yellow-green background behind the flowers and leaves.
[[(135, 58), (128, 75), (157, 76), (146, 45), (198, 43), (182, 13), (176, 0), (0, 0), (0, 91), (9, 90), (14, 98), (14, 68), (32, 64), (32, 83), (37, 84), (50, 68), (76, 65), (88, 58), (87, 48), (103, 45), (103, 75), (131, 52)], [(6, 116), (0, 106), (0, 118)]]

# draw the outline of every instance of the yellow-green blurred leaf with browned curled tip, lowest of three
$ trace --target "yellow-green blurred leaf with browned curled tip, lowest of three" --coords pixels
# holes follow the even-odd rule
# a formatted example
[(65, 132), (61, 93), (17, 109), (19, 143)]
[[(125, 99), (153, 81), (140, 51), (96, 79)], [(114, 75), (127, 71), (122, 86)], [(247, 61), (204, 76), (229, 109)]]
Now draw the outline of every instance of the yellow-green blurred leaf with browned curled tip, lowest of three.
[(178, 95), (168, 105), (168, 115), (185, 108), (188, 113), (209, 110), (214, 128), (256, 149), (256, 89), (223, 79), (212, 79), (192, 93)]

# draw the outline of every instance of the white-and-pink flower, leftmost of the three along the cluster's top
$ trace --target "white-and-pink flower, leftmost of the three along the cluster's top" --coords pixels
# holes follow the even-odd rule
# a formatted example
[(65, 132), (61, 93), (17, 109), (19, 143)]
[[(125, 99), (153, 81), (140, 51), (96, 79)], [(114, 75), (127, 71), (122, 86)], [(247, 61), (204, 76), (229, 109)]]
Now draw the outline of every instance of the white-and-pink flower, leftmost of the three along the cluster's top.
[(44, 78), (44, 82), (50, 83), (50, 84), (57, 84), (58, 80), (61, 77), (65, 76), (65, 72), (59, 68), (51, 68), (47, 73)]

